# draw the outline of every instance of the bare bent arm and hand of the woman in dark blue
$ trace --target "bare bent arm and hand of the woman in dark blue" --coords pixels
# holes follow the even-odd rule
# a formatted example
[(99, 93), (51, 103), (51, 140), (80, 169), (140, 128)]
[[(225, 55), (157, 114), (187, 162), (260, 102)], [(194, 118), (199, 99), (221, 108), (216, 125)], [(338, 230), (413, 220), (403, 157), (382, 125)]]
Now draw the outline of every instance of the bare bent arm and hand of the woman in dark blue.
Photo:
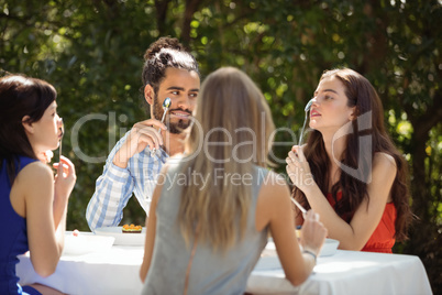
[[(65, 172), (63, 167), (58, 170), (58, 175), (63, 176), (57, 176), (55, 185), (52, 170), (42, 162), (26, 165), (13, 184), (14, 195), (24, 204), (21, 211), (26, 218), (31, 261), (41, 276), (54, 273), (64, 247), (67, 199), (76, 176), (70, 161), (63, 159), (63, 163)], [(54, 196), (54, 186), (66, 194)]]

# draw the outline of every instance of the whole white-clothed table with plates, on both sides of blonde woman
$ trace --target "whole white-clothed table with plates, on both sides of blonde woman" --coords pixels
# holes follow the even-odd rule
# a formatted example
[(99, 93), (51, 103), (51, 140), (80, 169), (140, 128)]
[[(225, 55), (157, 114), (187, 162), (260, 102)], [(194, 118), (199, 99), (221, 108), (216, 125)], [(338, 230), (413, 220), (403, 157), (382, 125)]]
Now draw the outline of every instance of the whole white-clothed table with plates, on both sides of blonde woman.
[[(144, 232), (143, 228), (143, 232)], [(65, 250), (54, 274), (37, 275), (29, 253), (19, 256), (20, 284), (42, 283), (66, 294), (140, 294), (143, 233), (121, 227), (75, 237), (66, 232)], [(272, 239), (247, 281), (252, 294), (432, 294), (418, 256), (336, 250), (328, 239), (310, 277), (300, 286), (286, 278)]]

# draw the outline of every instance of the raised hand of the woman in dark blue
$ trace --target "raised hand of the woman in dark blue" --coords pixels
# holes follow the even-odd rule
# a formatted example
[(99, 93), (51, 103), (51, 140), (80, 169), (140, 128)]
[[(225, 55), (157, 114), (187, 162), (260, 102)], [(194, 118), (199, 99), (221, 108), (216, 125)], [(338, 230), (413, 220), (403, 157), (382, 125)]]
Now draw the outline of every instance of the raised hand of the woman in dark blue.
[(62, 155), (60, 162), (63, 165), (54, 163), (54, 168), (57, 170), (54, 182), (54, 195), (55, 198), (68, 199), (77, 181), (77, 175), (75, 174), (75, 166), (69, 159)]

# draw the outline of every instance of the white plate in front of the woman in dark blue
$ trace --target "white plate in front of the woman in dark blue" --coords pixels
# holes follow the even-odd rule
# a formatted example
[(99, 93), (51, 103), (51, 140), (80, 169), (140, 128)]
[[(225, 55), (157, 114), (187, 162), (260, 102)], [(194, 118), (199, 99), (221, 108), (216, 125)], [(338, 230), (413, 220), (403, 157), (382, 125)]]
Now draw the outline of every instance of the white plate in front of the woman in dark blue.
[(75, 237), (71, 231), (66, 231), (63, 254), (84, 255), (102, 252), (111, 249), (114, 240), (112, 237), (95, 236), (91, 232), (79, 232), (78, 237)]

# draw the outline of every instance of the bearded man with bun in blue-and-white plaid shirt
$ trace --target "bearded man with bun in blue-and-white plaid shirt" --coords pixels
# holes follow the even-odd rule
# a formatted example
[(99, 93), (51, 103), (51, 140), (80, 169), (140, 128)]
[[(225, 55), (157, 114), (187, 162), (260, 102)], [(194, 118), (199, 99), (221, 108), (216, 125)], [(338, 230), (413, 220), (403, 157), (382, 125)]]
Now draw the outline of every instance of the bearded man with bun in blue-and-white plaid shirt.
[[(151, 119), (135, 123), (109, 154), (86, 211), (92, 231), (118, 226), (132, 194), (148, 212), (163, 164), (184, 151), (183, 130), (191, 122), (200, 88), (198, 63), (178, 40), (170, 37), (154, 42), (144, 61), (144, 98)], [(166, 98), (172, 105), (163, 123)]]

